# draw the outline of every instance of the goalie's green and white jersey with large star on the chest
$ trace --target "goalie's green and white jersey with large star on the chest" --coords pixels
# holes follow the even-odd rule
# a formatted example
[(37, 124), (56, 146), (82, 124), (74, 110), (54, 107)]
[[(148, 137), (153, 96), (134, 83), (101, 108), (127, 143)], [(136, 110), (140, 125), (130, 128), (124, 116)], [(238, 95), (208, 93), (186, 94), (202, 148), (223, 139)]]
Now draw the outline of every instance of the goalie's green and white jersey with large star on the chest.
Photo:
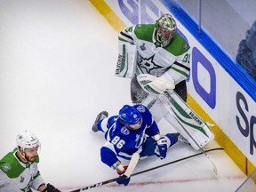
[(137, 74), (162, 76), (168, 73), (175, 84), (187, 79), (190, 70), (189, 45), (177, 33), (171, 43), (162, 47), (156, 41), (156, 25), (142, 24), (125, 28), (118, 36), (119, 44), (133, 44), (137, 48)]

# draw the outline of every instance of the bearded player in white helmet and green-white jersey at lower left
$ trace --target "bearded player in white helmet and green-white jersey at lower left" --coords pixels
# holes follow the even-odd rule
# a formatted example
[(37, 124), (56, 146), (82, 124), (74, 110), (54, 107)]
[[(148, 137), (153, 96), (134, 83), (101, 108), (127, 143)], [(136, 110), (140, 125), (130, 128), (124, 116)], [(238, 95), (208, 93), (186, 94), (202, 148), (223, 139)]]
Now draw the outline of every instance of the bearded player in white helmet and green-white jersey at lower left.
[(59, 192), (51, 184), (44, 184), (37, 164), (40, 141), (32, 132), (20, 132), (16, 138), (17, 147), (0, 160), (0, 191)]

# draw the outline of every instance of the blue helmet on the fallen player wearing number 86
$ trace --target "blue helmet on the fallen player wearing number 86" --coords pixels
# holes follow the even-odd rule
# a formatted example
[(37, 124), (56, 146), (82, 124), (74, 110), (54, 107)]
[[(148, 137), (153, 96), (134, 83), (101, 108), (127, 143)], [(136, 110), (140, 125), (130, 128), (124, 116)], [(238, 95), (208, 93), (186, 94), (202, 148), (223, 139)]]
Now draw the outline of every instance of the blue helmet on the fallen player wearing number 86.
[(136, 108), (124, 105), (124, 107), (119, 110), (119, 117), (126, 128), (130, 130), (140, 129), (141, 115)]

